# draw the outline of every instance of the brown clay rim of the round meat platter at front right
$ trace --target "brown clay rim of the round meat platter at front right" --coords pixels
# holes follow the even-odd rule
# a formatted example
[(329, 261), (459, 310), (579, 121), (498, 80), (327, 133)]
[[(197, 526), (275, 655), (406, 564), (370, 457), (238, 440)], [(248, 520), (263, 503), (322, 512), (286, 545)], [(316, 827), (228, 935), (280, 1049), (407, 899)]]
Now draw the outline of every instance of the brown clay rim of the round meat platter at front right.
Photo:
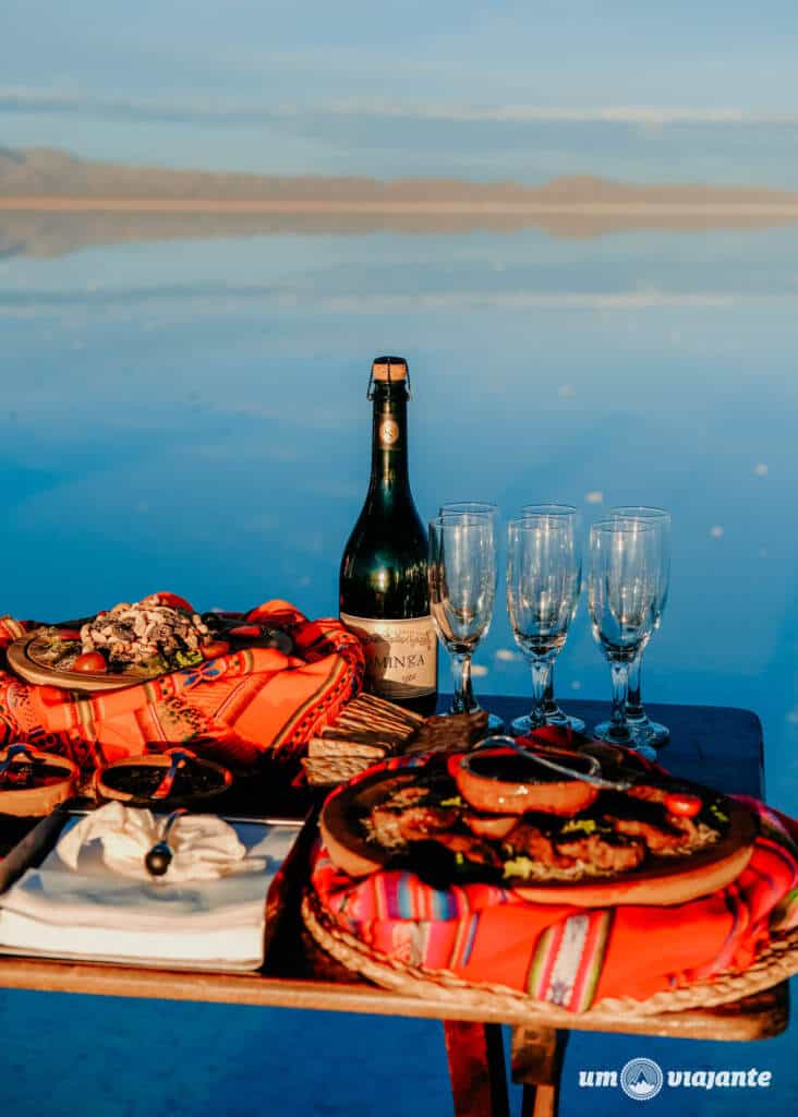
[[(392, 852), (368, 840), (359, 819), (398, 787), (413, 783), (417, 768), (400, 772), (375, 772), (350, 787), (334, 794), (324, 805), (319, 819), (321, 836), (334, 863), (350, 876), (358, 877), (383, 868)], [(688, 786), (679, 781), (680, 786)], [(691, 789), (718, 798), (717, 792), (691, 784)], [(637, 869), (623, 875), (590, 877), (585, 881), (554, 880), (551, 884), (525, 884), (512, 878), (502, 887), (536, 904), (574, 904), (596, 907), (616, 904), (685, 904), (706, 896), (734, 880), (746, 868), (757, 837), (754, 817), (734, 800), (723, 801), (729, 812), (729, 829), (717, 842), (694, 853), (662, 857), (651, 856)]]

